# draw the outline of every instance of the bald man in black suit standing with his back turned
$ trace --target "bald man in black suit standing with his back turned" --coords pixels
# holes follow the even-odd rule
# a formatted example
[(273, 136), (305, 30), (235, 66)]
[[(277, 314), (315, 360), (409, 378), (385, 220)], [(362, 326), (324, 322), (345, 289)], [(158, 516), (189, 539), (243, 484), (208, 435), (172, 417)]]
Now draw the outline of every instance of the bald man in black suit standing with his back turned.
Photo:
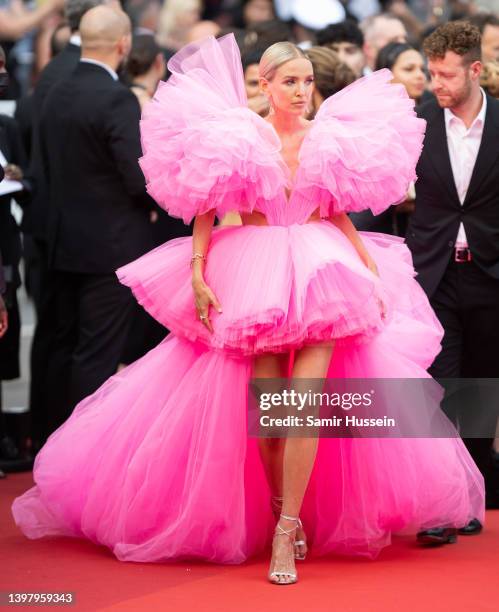
[(97, 6), (83, 16), (80, 35), (81, 60), (49, 93), (40, 122), (57, 283), (52, 426), (116, 372), (133, 301), (114, 272), (152, 244), (138, 165), (140, 108), (116, 73), (130, 51), (130, 20)]

